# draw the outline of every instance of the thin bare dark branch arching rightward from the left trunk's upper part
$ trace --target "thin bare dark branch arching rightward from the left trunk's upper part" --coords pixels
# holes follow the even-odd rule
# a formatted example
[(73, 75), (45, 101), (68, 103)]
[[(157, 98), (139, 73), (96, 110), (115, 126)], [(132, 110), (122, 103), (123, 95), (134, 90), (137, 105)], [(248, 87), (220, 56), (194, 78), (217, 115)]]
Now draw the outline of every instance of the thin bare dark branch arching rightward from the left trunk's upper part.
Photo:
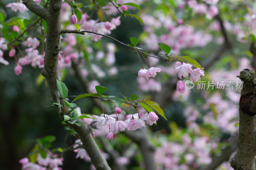
[[(63, 33), (77, 33), (77, 34), (82, 34), (82, 35), (84, 35), (85, 33), (93, 33), (93, 34), (96, 34), (96, 35), (101, 35), (101, 36), (103, 36), (103, 37), (107, 37), (107, 38), (109, 38), (109, 39), (111, 39), (111, 40), (114, 40), (114, 41), (116, 41), (116, 42), (118, 42), (118, 43), (120, 43), (120, 44), (126, 46), (126, 47), (132, 48), (132, 47), (130, 47), (130, 46), (124, 44), (123, 42), (118, 41), (118, 40), (116, 40), (116, 39), (114, 39), (114, 38), (112, 38), (112, 37), (110, 37), (110, 36), (108, 36), (108, 35), (104, 35), (104, 34), (100, 34), (100, 33), (95, 33), (95, 32), (92, 32), (92, 31), (61, 30), (61, 34), (63, 34)], [(158, 58), (158, 59), (160, 59), (160, 60), (166, 61), (166, 59), (163, 59), (163, 58), (160, 58), (160, 57), (156, 57), (156, 56), (154, 56), (154, 55), (149, 55), (149, 54), (144, 53), (144, 52), (142, 52), (142, 51), (140, 51), (140, 50), (138, 50), (138, 49), (136, 49), (136, 48), (132, 48), (132, 50), (138, 51), (138, 52), (140, 52), (140, 53), (142, 53), (142, 54), (145, 54), (145, 55), (148, 55), (148, 56), (150, 56), (150, 57), (154, 57), (154, 58)]]

